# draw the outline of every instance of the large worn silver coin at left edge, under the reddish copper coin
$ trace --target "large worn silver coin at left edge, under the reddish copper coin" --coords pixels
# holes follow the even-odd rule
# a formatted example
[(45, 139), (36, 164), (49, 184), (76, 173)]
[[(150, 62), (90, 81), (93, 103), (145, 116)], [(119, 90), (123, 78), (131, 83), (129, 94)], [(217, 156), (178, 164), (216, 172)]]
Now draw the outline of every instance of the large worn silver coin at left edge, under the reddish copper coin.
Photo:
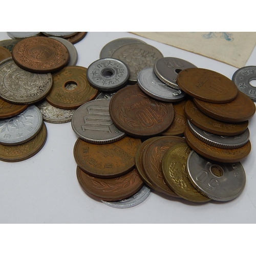
[(0, 62), (0, 97), (14, 104), (31, 104), (46, 97), (52, 88), (52, 75), (19, 68), (12, 58)]

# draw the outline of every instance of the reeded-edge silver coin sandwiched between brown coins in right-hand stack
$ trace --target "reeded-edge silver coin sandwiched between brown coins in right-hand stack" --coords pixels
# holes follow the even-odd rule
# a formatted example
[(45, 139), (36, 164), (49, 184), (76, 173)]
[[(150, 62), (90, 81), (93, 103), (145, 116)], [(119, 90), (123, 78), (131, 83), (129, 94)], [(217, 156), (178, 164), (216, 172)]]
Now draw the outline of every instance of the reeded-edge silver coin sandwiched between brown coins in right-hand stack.
[(250, 139), (250, 132), (248, 128), (240, 135), (220, 136), (203, 131), (189, 120), (187, 120), (187, 124), (190, 132), (193, 133), (198, 139), (209, 145), (220, 148), (238, 148), (245, 145)]

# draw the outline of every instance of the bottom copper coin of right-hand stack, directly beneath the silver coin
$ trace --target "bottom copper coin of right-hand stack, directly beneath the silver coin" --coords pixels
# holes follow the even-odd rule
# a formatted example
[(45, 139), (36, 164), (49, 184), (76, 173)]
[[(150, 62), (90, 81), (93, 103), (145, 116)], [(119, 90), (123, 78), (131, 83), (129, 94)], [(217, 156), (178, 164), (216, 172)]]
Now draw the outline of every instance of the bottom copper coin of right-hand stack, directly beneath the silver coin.
[(247, 157), (251, 151), (251, 143), (248, 141), (245, 145), (239, 148), (220, 148), (211, 146), (196, 136), (194, 136), (186, 127), (184, 133), (187, 144), (193, 148), (199, 155), (208, 159), (223, 162), (223, 163), (234, 163), (243, 160)]

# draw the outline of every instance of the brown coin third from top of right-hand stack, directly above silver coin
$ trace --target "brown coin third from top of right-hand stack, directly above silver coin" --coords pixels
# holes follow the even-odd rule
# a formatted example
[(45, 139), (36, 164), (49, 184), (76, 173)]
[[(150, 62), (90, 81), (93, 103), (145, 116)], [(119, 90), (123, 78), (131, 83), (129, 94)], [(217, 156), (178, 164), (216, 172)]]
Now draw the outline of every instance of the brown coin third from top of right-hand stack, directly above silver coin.
[(185, 115), (187, 119), (205, 132), (221, 136), (236, 136), (245, 132), (248, 120), (238, 123), (228, 123), (211, 118), (201, 112), (192, 100), (185, 104)]

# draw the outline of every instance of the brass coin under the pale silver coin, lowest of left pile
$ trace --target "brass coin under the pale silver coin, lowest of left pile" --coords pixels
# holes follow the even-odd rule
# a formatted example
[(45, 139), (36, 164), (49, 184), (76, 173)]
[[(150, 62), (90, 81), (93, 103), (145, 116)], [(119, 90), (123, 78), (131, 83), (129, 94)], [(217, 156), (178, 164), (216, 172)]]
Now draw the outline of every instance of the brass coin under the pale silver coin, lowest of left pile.
[(5, 162), (19, 162), (31, 158), (45, 145), (47, 129), (43, 123), (40, 132), (32, 139), (23, 144), (7, 146), (0, 144), (0, 160)]

